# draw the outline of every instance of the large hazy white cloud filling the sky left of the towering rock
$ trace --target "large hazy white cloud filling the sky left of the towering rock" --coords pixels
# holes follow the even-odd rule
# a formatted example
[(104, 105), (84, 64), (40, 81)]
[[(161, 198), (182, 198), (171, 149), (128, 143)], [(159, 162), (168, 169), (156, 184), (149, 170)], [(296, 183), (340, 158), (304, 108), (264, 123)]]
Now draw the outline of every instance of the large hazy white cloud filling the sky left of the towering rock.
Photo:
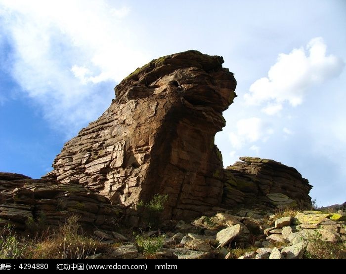
[(107, 0), (0, 0), (11, 75), (56, 128), (75, 134), (109, 106), (116, 82), (152, 59), (130, 15)]

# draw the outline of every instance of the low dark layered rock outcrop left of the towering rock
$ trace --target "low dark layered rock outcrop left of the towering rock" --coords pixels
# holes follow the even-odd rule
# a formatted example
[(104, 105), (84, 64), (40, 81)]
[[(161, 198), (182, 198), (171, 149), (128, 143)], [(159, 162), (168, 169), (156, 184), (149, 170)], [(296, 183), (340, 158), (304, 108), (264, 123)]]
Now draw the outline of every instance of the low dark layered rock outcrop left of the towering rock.
[(0, 172), (0, 228), (10, 224), (24, 231), (28, 221), (40, 218), (58, 226), (76, 214), (86, 229), (112, 229), (121, 213), (106, 197), (81, 185)]

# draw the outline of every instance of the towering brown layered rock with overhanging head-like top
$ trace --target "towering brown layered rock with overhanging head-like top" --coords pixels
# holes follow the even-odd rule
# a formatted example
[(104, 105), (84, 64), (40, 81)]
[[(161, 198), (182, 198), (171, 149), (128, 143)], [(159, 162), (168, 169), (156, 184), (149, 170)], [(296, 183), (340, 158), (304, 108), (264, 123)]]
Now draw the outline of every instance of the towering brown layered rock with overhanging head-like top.
[(125, 205), (168, 194), (167, 217), (219, 205), (223, 167), (214, 136), (236, 96), (222, 63), (190, 50), (137, 69), (116, 86), (108, 110), (65, 144), (45, 178)]

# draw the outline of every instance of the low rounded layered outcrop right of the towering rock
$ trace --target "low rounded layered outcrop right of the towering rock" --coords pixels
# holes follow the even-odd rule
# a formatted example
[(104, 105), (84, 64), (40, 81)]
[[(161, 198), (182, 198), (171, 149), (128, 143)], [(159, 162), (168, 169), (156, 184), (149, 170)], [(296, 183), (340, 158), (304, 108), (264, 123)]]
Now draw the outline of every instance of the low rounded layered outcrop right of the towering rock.
[(226, 206), (310, 208), (308, 180), (293, 167), (255, 157), (240, 157), (224, 170)]

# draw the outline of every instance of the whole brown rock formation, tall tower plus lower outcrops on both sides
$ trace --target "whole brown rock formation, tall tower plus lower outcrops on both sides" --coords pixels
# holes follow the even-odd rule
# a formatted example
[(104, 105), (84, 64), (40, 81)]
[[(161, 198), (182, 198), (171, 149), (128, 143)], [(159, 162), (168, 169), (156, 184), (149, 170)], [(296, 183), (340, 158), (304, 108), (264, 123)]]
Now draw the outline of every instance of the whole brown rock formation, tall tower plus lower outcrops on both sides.
[[(115, 88), (116, 99), (64, 145), (41, 180), (0, 173), (0, 226), (24, 230), (71, 213), (110, 229), (125, 206), (168, 194), (165, 217), (188, 219), (237, 206), (309, 207), (311, 186), (273, 160), (243, 157), (223, 169), (214, 136), (236, 81), (220, 56), (186, 51), (151, 61)], [(216, 207), (216, 208), (215, 208)], [(131, 211), (128, 210), (128, 212)]]

